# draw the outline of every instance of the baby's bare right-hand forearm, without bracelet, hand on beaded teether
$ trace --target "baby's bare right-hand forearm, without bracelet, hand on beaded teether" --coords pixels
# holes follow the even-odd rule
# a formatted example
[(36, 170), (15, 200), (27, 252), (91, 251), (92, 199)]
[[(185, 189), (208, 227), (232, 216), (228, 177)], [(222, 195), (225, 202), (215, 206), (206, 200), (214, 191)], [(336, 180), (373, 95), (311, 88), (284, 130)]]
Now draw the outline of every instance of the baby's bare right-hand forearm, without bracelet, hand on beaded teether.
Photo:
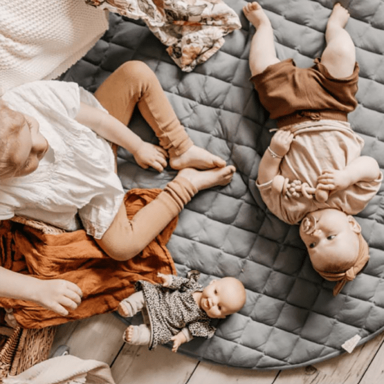
[(349, 163), (344, 170), (324, 170), (318, 177), (318, 188), (324, 190), (345, 190), (358, 181), (374, 181), (380, 177), (377, 161), (370, 156), (360, 156)]

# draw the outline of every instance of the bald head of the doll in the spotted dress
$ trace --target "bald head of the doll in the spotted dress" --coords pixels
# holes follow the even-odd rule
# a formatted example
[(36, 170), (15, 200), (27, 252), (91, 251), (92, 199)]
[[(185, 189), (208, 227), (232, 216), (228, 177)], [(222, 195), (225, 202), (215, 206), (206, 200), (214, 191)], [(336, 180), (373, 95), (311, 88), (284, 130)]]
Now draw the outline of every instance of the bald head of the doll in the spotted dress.
[(235, 277), (223, 277), (205, 286), (200, 307), (210, 318), (225, 318), (239, 311), (245, 302), (244, 285)]

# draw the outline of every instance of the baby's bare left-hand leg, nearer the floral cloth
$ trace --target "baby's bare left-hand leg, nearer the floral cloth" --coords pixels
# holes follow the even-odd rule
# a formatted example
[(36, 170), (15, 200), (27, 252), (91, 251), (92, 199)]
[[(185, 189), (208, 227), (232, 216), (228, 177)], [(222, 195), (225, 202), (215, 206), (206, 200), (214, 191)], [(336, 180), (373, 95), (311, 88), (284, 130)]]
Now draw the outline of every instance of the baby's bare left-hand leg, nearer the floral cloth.
[(256, 33), (250, 43), (249, 53), (250, 73), (254, 76), (262, 73), (267, 66), (278, 63), (280, 60), (276, 56), (271, 21), (269, 21), (262, 6), (253, 1), (253, 3), (244, 6), (243, 12), (256, 28)]

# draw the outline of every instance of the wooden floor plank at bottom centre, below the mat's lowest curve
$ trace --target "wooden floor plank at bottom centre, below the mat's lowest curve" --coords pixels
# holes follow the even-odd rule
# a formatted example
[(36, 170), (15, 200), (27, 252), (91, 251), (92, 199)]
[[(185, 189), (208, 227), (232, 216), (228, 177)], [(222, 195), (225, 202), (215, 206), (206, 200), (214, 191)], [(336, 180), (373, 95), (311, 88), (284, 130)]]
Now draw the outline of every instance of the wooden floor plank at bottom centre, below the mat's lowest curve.
[(278, 371), (255, 371), (201, 362), (188, 384), (272, 384)]

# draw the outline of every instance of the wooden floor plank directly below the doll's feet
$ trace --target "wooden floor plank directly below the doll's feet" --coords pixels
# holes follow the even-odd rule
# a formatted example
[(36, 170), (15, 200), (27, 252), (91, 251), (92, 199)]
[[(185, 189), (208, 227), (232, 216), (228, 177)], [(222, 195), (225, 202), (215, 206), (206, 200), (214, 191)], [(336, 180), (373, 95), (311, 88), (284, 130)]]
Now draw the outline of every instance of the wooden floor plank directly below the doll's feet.
[(153, 351), (125, 343), (111, 367), (116, 384), (185, 384), (197, 361), (162, 346)]

